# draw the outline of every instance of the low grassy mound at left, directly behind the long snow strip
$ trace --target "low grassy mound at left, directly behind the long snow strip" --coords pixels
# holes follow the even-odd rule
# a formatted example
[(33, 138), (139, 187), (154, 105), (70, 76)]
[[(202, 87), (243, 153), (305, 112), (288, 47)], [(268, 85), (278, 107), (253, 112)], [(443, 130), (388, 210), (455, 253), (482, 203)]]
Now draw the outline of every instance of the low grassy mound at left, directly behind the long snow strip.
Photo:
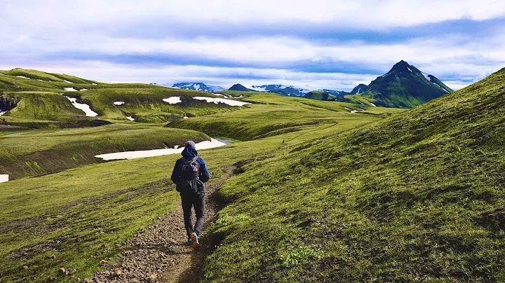
[(40, 176), (98, 163), (97, 154), (173, 148), (188, 139), (210, 137), (192, 130), (119, 124), (8, 134), (0, 137), (0, 172), (11, 179)]

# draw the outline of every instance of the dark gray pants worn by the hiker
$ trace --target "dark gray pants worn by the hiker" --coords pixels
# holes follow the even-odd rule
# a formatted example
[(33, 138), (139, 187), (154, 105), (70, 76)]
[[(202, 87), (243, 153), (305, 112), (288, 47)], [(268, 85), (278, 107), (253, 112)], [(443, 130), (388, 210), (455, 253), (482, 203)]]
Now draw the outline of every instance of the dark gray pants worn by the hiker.
[[(205, 192), (198, 194), (181, 194), (182, 212), (184, 212), (184, 226), (189, 237), (194, 231), (201, 232), (203, 223), (205, 222)], [(193, 227), (193, 219), (191, 219), (191, 207), (194, 207), (196, 214), (196, 223)]]

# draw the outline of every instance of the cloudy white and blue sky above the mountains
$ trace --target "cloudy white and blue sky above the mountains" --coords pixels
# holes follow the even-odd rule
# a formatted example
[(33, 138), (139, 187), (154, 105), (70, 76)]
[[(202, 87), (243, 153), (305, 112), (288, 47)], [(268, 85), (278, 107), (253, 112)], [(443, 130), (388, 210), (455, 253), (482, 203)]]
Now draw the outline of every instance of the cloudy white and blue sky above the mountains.
[(454, 90), (505, 67), (504, 0), (1, 0), (0, 69), (351, 90), (405, 60)]

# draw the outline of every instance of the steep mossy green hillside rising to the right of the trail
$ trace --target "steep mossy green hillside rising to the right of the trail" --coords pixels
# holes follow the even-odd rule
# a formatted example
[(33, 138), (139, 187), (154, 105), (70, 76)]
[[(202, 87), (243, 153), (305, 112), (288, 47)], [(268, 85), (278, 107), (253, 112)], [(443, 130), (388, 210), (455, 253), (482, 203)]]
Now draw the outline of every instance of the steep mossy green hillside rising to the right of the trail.
[(206, 282), (505, 280), (505, 69), (243, 167)]

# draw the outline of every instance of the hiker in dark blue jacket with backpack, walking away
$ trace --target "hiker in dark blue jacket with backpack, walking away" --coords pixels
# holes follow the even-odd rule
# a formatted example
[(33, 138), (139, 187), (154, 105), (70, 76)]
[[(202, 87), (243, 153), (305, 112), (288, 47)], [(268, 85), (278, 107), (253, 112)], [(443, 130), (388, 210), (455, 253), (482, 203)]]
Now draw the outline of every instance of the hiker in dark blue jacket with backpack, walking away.
[[(186, 141), (182, 158), (175, 162), (172, 172), (172, 181), (175, 189), (180, 193), (182, 211), (184, 212), (184, 226), (186, 226), (187, 242), (193, 244), (193, 249), (198, 249), (200, 243), (198, 237), (205, 222), (205, 186), (210, 174), (207, 165), (202, 158), (198, 157), (193, 141)], [(191, 207), (194, 207), (196, 223), (193, 227), (191, 219)]]

